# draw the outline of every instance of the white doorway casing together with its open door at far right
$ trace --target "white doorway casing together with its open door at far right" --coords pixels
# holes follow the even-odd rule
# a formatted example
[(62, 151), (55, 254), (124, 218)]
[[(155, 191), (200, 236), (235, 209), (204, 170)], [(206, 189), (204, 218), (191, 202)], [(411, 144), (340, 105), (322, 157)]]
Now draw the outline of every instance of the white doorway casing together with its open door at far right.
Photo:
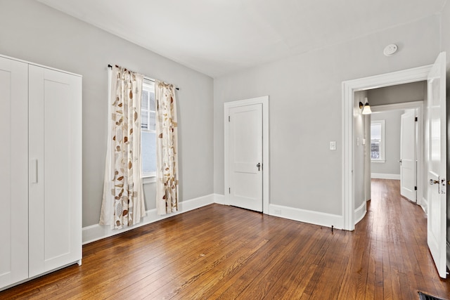
[[(343, 228), (354, 230), (355, 221), (355, 177), (357, 166), (354, 162), (354, 98), (356, 91), (368, 91), (377, 87), (394, 86), (427, 80), (428, 96), (425, 113), (425, 144), (427, 155), (423, 178), (432, 185), (424, 184), (428, 197), (428, 248), (435, 261), (439, 276), (446, 278), (446, 53), (439, 53), (435, 63), (408, 70), (380, 74), (342, 82), (343, 100), (343, 168), (342, 168), (342, 210)], [(450, 253), (450, 251), (449, 251)], [(449, 263), (450, 264), (450, 263)]]

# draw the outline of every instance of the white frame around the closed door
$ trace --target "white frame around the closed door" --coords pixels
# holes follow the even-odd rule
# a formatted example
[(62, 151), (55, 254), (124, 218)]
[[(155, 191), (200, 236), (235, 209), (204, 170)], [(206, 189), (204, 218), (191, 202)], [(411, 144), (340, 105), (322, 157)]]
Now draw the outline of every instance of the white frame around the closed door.
[(262, 213), (269, 214), (269, 96), (224, 103), (224, 204), (229, 205), (229, 109), (245, 105), (262, 104)]

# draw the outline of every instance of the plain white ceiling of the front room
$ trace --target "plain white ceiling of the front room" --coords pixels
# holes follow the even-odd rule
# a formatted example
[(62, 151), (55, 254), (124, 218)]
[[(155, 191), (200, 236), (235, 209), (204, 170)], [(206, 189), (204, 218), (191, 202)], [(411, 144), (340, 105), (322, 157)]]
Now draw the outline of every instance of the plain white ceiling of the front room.
[(446, 2), (37, 1), (211, 77), (413, 22), (439, 13)]

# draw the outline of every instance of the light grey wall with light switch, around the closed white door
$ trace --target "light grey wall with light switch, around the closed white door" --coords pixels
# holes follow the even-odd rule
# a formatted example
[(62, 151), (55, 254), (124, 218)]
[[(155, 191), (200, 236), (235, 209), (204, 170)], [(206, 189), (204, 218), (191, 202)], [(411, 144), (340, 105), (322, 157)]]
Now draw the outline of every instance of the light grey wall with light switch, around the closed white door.
[[(436, 15), (214, 79), (214, 193), (224, 193), (224, 103), (269, 95), (271, 203), (341, 215), (342, 81), (428, 65), (439, 34)], [(383, 56), (392, 43), (397, 54)]]

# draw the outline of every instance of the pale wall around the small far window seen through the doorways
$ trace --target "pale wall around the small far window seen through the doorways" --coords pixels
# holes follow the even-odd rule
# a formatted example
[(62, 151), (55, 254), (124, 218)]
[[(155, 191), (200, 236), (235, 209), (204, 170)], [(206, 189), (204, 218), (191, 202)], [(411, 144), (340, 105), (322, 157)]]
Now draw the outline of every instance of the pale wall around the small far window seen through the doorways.
[(385, 120), (385, 162), (372, 162), (372, 174), (397, 175), (400, 178), (400, 122), (403, 110), (377, 112), (372, 121)]

